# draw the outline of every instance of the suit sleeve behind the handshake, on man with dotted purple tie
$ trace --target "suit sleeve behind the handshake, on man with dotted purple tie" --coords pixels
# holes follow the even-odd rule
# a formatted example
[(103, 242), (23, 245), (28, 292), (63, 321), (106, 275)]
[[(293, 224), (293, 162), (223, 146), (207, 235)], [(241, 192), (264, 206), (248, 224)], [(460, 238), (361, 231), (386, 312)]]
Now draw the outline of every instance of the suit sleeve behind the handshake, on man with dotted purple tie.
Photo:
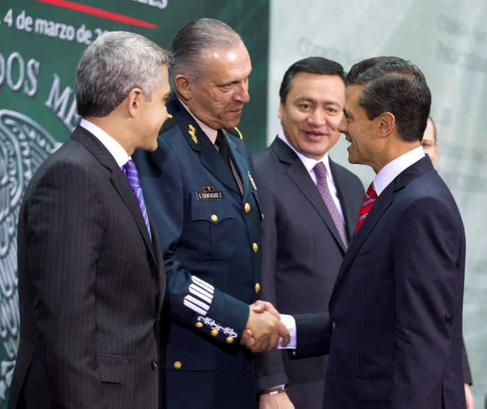
[[(262, 221), (262, 249), (264, 251), (261, 274), (262, 299), (279, 309), (279, 306), (276, 305), (276, 207), (272, 199), (271, 189), (258, 168), (255, 169), (255, 182), (259, 186), (260, 208), (265, 215)], [(258, 391), (287, 385), (289, 380), (284, 367), (283, 352), (274, 350), (255, 354), (255, 378)]]

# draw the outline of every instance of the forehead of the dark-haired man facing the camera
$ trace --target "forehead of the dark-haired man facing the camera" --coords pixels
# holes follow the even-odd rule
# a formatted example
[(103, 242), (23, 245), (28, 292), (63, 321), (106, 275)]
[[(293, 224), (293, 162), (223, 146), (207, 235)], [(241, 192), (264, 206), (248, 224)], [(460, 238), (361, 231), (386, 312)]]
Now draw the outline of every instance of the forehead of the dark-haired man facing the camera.
[(339, 75), (300, 72), (294, 75), (288, 96), (291, 98), (308, 97), (317, 101), (332, 97), (343, 104), (345, 82)]

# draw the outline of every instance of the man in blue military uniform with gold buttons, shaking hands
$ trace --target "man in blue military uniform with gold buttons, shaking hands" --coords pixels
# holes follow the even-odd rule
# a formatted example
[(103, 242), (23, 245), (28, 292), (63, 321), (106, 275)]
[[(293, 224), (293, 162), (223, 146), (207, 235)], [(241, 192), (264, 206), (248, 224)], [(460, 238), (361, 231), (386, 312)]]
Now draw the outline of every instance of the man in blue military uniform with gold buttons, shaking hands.
[(237, 33), (210, 19), (184, 27), (172, 53), (170, 119), (157, 151), (133, 155), (163, 247), (163, 315), (172, 317), (161, 328), (161, 399), (168, 409), (257, 408), (253, 354), (240, 336), (251, 330), (257, 352), (288, 334), (271, 306), (250, 308), (260, 297), (264, 215), (234, 128), (250, 100), (250, 57)]

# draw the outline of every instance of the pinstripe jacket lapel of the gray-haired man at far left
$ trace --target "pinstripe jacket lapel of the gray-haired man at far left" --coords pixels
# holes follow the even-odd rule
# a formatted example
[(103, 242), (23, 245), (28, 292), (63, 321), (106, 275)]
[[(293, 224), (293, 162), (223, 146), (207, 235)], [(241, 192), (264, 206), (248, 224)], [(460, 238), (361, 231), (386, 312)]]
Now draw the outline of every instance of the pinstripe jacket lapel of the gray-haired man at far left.
[(130, 213), (135, 219), (135, 223), (137, 223), (137, 227), (144, 238), (145, 244), (149, 248), (153, 261), (156, 263), (156, 256), (154, 255), (151, 238), (149, 237), (149, 232), (147, 231), (147, 226), (145, 225), (142, 212), (140, 211), (139, 205), (137, 205), (137, 200), (135, 199), (135, 195), (133, 194), (126, 177), (123, 175), (123, 172), (119, 168), (119, 165), (115, 161), (112, 154), (110, 154), (110, 151), (108, 151), (105, 145), (103, 145), (96, 136), (92, 135), (82, 126), (77, 126), (71, 137), (84, 144), (84, 146), (91, 151), (98, 161), (100, 161), (105, 168), (112, 172), (110, 177), (112, 184), (119, 193), (123, 202), (125, 202), (130, 210)]

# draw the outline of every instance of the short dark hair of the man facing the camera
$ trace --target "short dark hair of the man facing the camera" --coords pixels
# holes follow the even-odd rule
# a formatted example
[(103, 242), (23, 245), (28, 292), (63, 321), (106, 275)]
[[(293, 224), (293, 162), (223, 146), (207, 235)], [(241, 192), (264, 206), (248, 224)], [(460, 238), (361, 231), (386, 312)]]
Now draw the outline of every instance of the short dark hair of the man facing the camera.
[(343, 74), (343, 67), (335, 61), (331, 61), (322, 57), (308, 57), (300, 59), (287, 68), (283, 77), (283, 82), (280, 83), (279, 96), (280, 101), (285, 105), (287, 94), (292, 87), (292, 81), (297, 73), (311, 73), (320, 75), (338, 75), (345, 81)]

